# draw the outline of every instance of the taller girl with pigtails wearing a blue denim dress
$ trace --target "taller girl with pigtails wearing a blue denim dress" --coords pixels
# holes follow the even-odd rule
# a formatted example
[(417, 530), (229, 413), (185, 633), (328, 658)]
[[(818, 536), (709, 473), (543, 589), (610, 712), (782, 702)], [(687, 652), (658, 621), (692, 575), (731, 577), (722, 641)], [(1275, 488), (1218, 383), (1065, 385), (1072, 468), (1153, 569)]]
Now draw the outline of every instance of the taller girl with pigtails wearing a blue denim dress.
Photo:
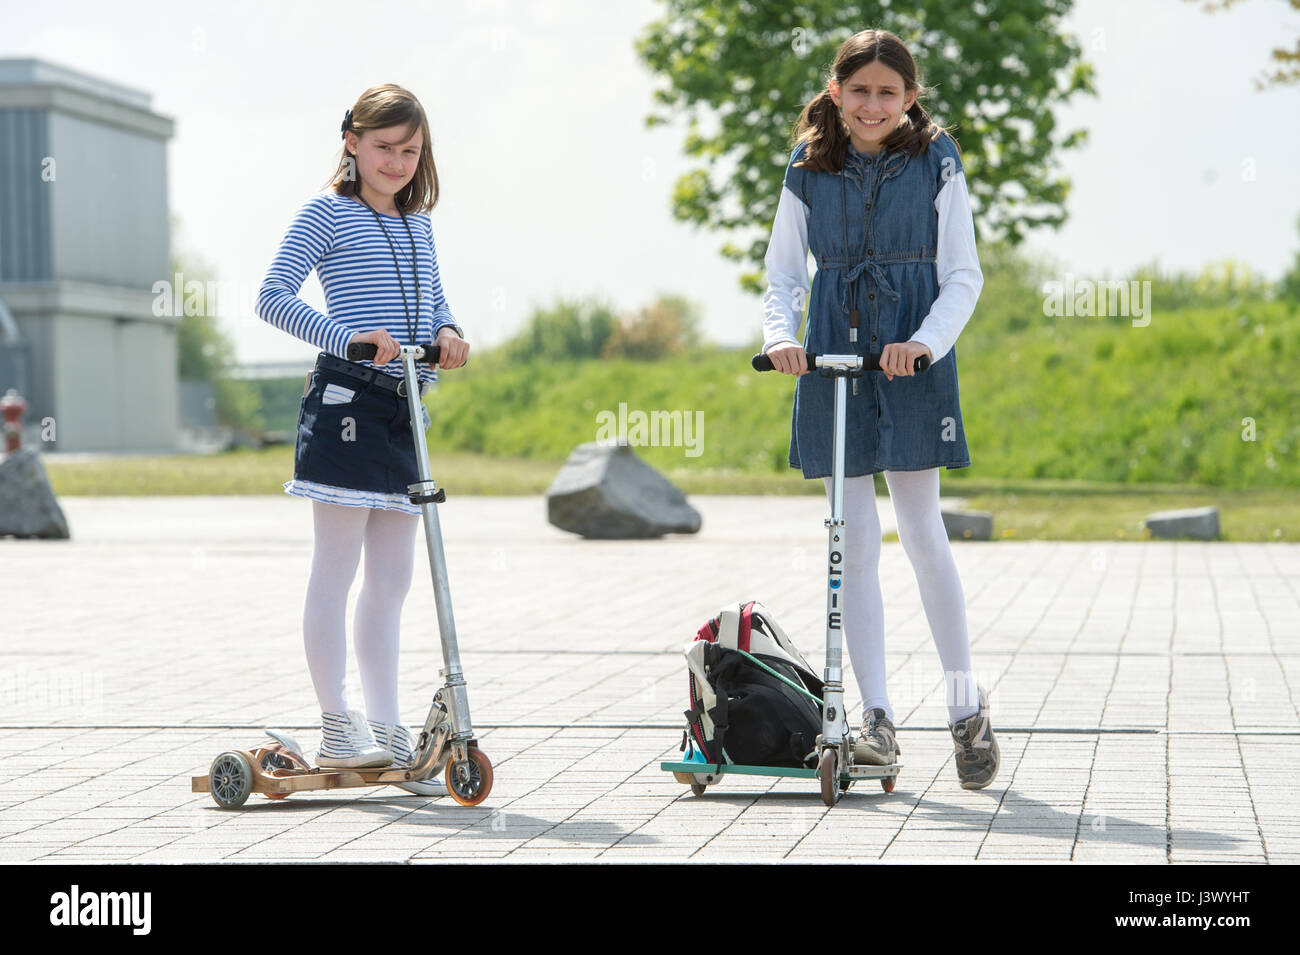
[[(805, 352), (879, 355), (881, 373), (852, 381), (845, 420), (844, 633), (862, 693), (854, 758), (900, 755), (885, 691), (880, 521), (871, 477), (884, 472), (946, 687), (957, 773), (965, 789), (997, 776), (988, 699), (975, 683), (966, 604), (939, 508), (939, 469), (970, 466), (954, 342), (983, 286), (957, 143), (918, 103), (916, 65), (885, 30), (840, 47), (826, 91), (809, 103), (767, 251), (763, 351), (797, 376), (790, 466), (829, 492), (833, 381)], [(807, 330), (796, 334), (816, 261)], [(928, 370), (913, 372), (926, 355)]]

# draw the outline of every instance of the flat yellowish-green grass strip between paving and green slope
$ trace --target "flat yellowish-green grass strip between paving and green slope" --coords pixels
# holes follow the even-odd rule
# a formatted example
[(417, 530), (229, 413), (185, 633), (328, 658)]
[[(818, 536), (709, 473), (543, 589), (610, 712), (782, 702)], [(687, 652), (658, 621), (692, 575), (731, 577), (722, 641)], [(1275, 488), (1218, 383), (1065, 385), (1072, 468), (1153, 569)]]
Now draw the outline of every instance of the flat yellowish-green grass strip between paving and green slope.
[[(292, 473), (292, 448), (230, 451), (221, 455), (127, 456), (60, 461), (47, 456), (60, 496), (147, 496), (281, 494)], [(433, 473), (455, 496), (534, 495), (546, 491), (562, 461), (438, 453)], [(950, 478), (945, 495), (961, 496), (978, 511), (993, 512), (993, 534), (1011, 541), (1141, 541), (1143, 518), (1154, 511), (1214, 504), (1225, 541), (1300, 541), (1300, 495), (1290, 490), (1226, 490), (1187, 485), (1117, 485), (1088, 481)], [(822, 495), (820, 481), (796, 472), (667, 469), (686, 494)], [(876, 477), (878, 494), (887, 494)], [(894, 538), (897, 539), (897, 538)]]

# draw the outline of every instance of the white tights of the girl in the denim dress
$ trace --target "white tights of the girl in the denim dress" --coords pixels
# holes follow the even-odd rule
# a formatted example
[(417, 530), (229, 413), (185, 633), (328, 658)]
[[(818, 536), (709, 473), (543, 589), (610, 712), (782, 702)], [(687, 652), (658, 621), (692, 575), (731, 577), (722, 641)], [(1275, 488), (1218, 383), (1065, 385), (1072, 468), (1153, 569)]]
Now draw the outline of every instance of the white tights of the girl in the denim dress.
[[(948, 721), (956, 722), (976, 713), (979, 700), (966, 633), (966, 599), (939, 513), (939, 468), (887, 470), (884, 474), (898, 517), (898, 539), (911, 561), (920, 603), (944, 668)], [(829, 499), (831, 478), (826, 478), (826, 490)], [(870, 474), (845, 479), (844, 520), (848, 531), (844, 554), (848, 591), (844, 599), (845, 643), (862, 691), (863, 716), (879, 707), (893, 721), (893, 708), (885, 693), (880, 517), (876, 513), (876, 487)]]

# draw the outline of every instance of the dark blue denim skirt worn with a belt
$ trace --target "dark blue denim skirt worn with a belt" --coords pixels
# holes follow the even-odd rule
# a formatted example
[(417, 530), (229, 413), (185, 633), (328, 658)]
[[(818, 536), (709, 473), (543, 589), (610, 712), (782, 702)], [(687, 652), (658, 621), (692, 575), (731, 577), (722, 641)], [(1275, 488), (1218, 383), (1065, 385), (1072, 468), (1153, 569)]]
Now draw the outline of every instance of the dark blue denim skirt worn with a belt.
[(298, 411), (294, 481), (407, 494), (420, 479), (406, 395), (393, 376), (321, 353)]

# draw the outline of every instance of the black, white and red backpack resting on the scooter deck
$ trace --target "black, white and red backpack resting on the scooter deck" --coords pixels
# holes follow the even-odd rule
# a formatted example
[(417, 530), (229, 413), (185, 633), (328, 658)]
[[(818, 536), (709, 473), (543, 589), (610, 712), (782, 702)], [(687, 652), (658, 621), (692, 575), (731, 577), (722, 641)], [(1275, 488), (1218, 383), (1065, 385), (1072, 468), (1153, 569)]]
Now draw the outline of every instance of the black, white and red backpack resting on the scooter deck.
[[(724, 607), (686, 644), (685, 761), (812, 767), (822, 681), (760, 603)], [(689, 746), (689, 750), (688, 750)]]

